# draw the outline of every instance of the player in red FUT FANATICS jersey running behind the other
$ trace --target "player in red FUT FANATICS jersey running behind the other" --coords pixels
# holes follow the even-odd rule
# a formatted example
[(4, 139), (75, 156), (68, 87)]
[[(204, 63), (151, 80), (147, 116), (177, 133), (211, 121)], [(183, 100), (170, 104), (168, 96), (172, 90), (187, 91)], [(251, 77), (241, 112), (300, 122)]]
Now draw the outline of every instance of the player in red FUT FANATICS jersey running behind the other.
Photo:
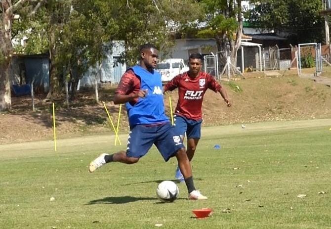
[[(163, 91), (178, 88), (178, 101), (175, 109), (175, 130), (184, 139), (187, 137), (187, 156), (191, 161), (201, 137), (202, 102), (207, 89), (219, 92), (227, 106), (230, 107), (225, 89), (206, 72), (201, 71), (203, 56), (193, 53), (189, 57), (189, 71), (175, 76), (164, 87)], [(175, 178), (183, 181), (183, 176), (177, 167)]]

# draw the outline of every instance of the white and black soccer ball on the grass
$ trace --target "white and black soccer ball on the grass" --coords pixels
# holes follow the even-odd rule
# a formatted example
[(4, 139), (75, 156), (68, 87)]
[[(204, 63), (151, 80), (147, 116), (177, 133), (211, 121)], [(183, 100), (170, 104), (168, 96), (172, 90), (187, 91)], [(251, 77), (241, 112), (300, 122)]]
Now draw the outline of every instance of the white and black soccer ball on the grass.
[(173, 202), (179, 195), (179, 189), (174, 182), (163, 181), (159, 183), (156, 195), (162, 202)]

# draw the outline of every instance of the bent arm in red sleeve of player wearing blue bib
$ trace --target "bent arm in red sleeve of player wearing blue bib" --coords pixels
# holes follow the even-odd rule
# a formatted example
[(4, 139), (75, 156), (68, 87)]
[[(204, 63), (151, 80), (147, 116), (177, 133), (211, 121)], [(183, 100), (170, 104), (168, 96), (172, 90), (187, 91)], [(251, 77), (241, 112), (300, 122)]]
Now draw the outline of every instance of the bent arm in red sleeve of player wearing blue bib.
[(113, 98), (115, 104), (134, 101), (139, 97), (146, 96), (147, 90), (140, 90), (140, 84), (135, 83), (135, 78), (133, 71), (127, 71), (123, 74)]

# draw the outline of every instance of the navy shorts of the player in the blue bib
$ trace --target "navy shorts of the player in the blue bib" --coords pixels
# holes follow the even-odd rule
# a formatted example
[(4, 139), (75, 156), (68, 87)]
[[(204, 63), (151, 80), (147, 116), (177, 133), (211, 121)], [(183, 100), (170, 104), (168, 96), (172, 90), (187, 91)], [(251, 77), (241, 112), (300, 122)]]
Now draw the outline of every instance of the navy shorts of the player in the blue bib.
[(153, 143), (165, 161), (184, 148), (181, 138), (175, 134), (174, 128), (168, 122), (153, 126), (136, 125), (130, 130), (127, 138), (126, 156), (143, 157)]

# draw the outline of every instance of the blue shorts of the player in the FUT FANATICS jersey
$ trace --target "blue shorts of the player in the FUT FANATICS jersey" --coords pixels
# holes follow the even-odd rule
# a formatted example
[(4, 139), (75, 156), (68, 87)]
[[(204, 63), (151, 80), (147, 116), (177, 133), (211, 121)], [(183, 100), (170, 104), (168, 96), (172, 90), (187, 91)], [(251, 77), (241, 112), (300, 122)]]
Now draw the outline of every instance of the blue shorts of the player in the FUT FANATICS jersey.
[(176, 115), (175, 119), (175, 131), (177, 135), (185, 136), (186, 132), (187, 139), (201, 137), (202, 119), (187, 119), (179, 115)]

